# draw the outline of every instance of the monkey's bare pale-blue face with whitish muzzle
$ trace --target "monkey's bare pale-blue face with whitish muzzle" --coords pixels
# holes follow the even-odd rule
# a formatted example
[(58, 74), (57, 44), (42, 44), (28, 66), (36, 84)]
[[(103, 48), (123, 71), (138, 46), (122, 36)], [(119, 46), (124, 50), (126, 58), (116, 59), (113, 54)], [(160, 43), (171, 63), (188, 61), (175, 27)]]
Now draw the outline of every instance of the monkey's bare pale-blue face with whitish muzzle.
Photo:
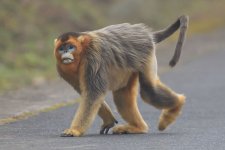
[(76, 47), (72, 44), (63, 44), (58, 48), (59, 54), (61, 54), (61, 59), (64, 64), (70, 64), (74, 61), (73, 52)]

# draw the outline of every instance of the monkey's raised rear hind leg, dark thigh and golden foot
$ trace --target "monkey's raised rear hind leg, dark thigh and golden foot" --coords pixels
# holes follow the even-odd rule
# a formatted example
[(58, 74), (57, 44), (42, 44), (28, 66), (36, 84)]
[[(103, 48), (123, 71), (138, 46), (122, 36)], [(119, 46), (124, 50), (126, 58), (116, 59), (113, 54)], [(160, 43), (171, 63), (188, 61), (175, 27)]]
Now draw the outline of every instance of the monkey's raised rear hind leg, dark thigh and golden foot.
[(161, 83), (158, 77), (153, 80), (151, 76), (140, 73), (139, 79), (142, 99), (148, 104), (162, 109), (158, 125), (158, 129), (162, 131), (180, 115), (185, 103), (185, 96), (172, 91)]

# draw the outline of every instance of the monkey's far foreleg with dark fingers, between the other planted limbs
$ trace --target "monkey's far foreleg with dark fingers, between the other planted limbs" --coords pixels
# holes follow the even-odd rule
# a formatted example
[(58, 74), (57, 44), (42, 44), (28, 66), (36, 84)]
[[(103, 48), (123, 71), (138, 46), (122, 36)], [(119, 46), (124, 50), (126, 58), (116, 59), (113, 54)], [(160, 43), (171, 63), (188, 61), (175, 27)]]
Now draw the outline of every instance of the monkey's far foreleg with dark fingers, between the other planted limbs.
[(101, 126), (100, 134), (107, 134), (109, 129), (115, 126), (118, 121), (112, 114), (110, 107), (107, 105), (106, 102), (103, 102), (99, 111), (98, 115), (102, 118), (103, 124)]

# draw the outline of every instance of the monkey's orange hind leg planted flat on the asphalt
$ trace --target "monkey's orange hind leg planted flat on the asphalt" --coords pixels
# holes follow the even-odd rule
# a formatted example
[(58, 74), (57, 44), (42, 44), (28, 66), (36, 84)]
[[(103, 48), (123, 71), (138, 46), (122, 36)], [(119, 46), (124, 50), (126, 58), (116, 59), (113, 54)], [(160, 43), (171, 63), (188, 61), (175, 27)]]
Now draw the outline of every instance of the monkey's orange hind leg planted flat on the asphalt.
[(125, 125), (113, 128), (114, 134), (146, 133), (148, 125), (143, 120), (137, 106), (138, 74), (133, 74), (126, 87), (113, 92), (114, 102), (122, 118), (127, 121)]

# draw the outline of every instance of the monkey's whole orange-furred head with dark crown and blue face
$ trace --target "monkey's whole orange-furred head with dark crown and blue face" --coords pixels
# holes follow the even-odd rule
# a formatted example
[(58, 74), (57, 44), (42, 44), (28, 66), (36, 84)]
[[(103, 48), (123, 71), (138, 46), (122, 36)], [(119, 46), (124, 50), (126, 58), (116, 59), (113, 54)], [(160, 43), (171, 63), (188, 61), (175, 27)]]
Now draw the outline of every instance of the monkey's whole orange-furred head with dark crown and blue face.
[(61, 68), (77, 70), (85, 48), (90, 42), (90, 36), (68, 32), (55, 39), (54, 54)]

